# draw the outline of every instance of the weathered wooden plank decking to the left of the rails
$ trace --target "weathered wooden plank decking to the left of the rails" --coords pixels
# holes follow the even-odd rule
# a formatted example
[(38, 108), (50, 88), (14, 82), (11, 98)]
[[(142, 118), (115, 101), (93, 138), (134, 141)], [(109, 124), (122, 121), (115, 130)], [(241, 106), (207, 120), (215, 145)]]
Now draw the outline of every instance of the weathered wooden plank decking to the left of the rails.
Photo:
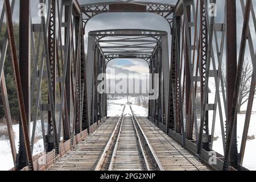
[[(122, 113), (125, 110), (123, 107)], [(84, 141), (77, 144), (75, 148), (58, 159), (47, 170), (49, 171), (86, 171), (93, 170), (98, 162), (98, 156), (108, 143), (113, 131), (117, 130), (121, 117), (109, 118), (102, 123), (96, 131), (88, 136)]]

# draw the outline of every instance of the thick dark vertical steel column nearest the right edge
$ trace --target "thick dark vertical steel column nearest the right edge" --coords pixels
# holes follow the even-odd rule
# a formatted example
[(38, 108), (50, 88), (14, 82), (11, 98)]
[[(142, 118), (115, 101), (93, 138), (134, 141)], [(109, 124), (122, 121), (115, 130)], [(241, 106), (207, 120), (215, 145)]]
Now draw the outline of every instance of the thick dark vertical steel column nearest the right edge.
[[(234, 96), (234, 84), (236, 81), (237, 71), (237, 19), (236, 19), (236, 1), (226, 0), (226, 13), (227, 13), (227, 38), (226, 38), (226, 94), (227, 94), (227, 111), (228, 118), (226, 118), (226, 131), (229, 127), (232, 111), (232, 100)], [(237, 115), (237, 113), (234, 113)], [(237, 152), (237, 122), (234, 123), (234, 134), (231, 143), (230, 164), (233, 167), (238, 165), (238, 152)], [(227, 133), (226, 133), (227, 135)], [(225, 154), (226, 155), (226, 154)]]

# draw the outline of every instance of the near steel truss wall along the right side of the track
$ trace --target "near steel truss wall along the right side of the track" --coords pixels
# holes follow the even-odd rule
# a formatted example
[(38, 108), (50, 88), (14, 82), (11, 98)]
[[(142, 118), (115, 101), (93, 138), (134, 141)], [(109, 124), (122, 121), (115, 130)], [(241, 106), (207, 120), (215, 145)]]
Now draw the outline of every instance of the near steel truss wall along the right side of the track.
[[(253, 6), (250, 0), (246, 1), (246, 6), (241, 1), (245, 20), (243, 23), (240, 58), (237, 65), (236, 62), (234, 63), (237, 60), (237, 33), (236, 20), (234, 19), (236, 16), (236, 2), (226, 1), (222, 23), (216, 23), (215, 17), (209, 16), (210, 11), (207, 10), (210, 3), (219, 5), (219, 2), (214, 0), (180, 0), (174, 10), (170, 71), (170, 127), (168, 133), (183, 143), (183, 146), (188, 150), (198, 155), (201, 160), (207, 162), (209, 152), (213, 151), (214, 130), (216, 129), (218, 112), (224, 156), (217, 154), (217, 164), (213, 164), (212, 167), (220, 170), (245, 169), (242, 167), (242, 160), (245, 152), (245, 136), (247, 135), (250, 121), (251, 104), (253, 102), (252, 96), (255, 94), (255, 74), (251, 79), (249, 96), (251, 100), (247, 106), (248, 110), (240, 154), (237, 152), (236, 115), (238, 94), (241, 92), (239, 87), (246, 40), (250, 48), (251, 64), (255, 71), (255, 49), (253, 48), (248, 26), (250, 14), (253, 17), (253, 23), (255, 23), (255, 14), (253, 8), (251, 8)], [(197, 26), (199, 22), (200, 28)], [(226, 45), (225, 41), (227, 42)], [(226, 72), (228, 80), (227, 91), (225, 90), (222, 76), (222, 61), (225, 48), (227, 50), (228, 69)], [(216, 90), (211, 90), (211, 92), (215, 92), (214, 102), (212, 103), (208, 99), (210, 79), (214, 81), (216, 86)], [(180, 89), (181, 82), (183, 82), (182, 89)], [(200, 89), (197, 89), (199, 86)], [(226, 96), (226, 92), (228, 96)], [(196, 99), (199, 96), (200, 102)], [(183, 103), (185, 105), (185, 114), (183, 113)], [(224, 108), (221, 103), (224, 103)], [(210, 115), (210, 113), (212, 114)], [(181, 117), (185, 119), (181, 119)], [(209, 118), (212, 118), (212, 121)], [(212, 126), (209, 126), (209, 124)], [(227, 127), (225, 128), (225, 126)]]

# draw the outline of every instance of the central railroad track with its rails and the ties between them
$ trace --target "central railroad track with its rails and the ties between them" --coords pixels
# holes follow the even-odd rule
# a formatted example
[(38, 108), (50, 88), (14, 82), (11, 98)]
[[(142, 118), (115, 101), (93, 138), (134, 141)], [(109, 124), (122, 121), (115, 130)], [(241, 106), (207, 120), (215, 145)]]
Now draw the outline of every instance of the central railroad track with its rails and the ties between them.
[(132, 109), (131, 113), (130, 116), (122, 115), (118, 132), (113, 132), (98, 160), (96, 171), (163, 170)]

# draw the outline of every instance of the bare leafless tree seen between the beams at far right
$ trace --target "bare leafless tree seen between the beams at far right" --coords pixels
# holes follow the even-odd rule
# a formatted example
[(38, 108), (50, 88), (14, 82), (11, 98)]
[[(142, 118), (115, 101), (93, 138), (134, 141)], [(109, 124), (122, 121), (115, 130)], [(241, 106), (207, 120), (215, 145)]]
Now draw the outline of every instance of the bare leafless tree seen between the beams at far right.
[[(250, 92), (250, 84), (251, 84), (251, 76), (253, 75), (253, 67), (247, 58), (243, 63), (242, 75), (241, 75), (241, 85), (240, 85), (240, 93), (238, 97), (238, 105), (237, 112), (241, 112), (241, 106), (248, 101), (248, 95)], [(224, 81), (224, 89), (226, 92), (226, 71), (225, 68), (222, 67), (222, 78)]]

